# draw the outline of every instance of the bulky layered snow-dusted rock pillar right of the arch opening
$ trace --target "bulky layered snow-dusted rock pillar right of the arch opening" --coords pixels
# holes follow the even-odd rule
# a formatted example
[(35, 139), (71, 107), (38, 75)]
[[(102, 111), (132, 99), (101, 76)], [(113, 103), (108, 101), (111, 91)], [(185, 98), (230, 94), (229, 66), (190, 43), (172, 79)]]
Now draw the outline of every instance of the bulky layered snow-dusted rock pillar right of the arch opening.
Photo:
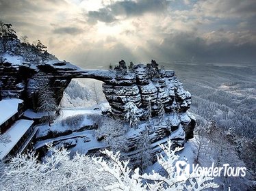
[[(152, 70), (158, 71), (151, 74)], [(133, 65), (131, 72), (116, 70), (113, 74), (111, 80), (105, 80), (103, 91), (112, 112), (118, 117), (125, 115), (125, 104), (128, 102), (136, 104), (145, 115), (149, 104), (156, 114), (158, 102), (164, 104), (166, 112), (185, 113), (190, 108), (191, 94), (183, 89), (174, 71), (153, 68), (151, 63), (147, 66)]]

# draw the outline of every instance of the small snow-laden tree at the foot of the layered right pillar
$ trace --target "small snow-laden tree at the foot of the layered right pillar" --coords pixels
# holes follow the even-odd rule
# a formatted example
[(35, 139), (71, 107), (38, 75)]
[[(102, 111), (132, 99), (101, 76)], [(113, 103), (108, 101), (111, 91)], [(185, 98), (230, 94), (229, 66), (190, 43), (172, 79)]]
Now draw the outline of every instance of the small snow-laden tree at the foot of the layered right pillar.
[(138, 116), (140, 110), (133, 104), (133, 102), (128, 102), (125, 104), (125, 119), (129, 121), (131, 128), (137, 128), (138, 123), (140, 123), (140, 117)]

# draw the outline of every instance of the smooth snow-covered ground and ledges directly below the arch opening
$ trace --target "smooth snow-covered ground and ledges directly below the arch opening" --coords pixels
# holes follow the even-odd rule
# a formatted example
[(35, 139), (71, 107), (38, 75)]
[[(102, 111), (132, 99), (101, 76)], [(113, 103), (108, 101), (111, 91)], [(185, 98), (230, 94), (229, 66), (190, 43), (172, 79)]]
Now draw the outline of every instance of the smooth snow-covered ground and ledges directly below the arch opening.
[[(103, 107), (103, 106), (102, 106)], [(104, 108), (104, 107), (103, 107)], [(65, 120), (67, 117), (72, 117), (76, 115), (83, 115), (84, 120), (81, 121), (79, 126), (75, 127), (68, 127), (63, 126), (62, 121)], [(49, 127), (48, 123), (38, 126), (38, 137), (46, 136), (49, 131), (51, 132), (65, 132), (66, 130), (79, 130), (85, 126), (93, 126), (95, 121), (93, 121), (93, 115), (101, 115), (101, 110), (90, 110), (90, 109), (71, 109), (71, 108), (64, 108), (61, 111), (60, 117), (55, 119), (55, 122)], [(83, 130), (81, 132), (73, 132), (72, 134), (68, 134), (65, 136), (59, 136), (57, 138), (49, 138), (44, 141), (38, 141), (35, 145), (35, 149), (38, 149), (44, 146), (47, 143), (55, 143), (55, 145), (62, 146), (62, 145), (71, 145), (75, 146), (71, 149), (71, 156), (75, 154), (75, 152), (79, 153), (87, 153), (91, 149), (99, 149), (105, 147), (105, 143), (97, 141), (97, 138), (94, 136), (94, 130)]]

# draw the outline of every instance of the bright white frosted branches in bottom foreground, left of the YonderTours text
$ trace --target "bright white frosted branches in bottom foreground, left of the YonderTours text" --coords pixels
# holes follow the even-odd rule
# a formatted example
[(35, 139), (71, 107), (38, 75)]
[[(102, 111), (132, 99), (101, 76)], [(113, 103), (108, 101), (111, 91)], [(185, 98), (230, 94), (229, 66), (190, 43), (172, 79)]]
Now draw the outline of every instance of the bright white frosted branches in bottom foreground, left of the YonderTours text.
[[(103, 158), (94, 158), (94, 162), (99, 164), (101, 168), (99, 171), (106, 172), (112, 175), (116, 181), (111, 186), (107, 186), (105, 190), (205, 190), (207, 188), (218, 188), (212, 177), (205, 177), (204, 175), (191, 175), (184, 180), (179, 180), (175, 168), (175, 161), (179, 159), (175, 153), (181, 148), (172, 150), (172, 143), (168, 141), (168, 145), (160, 145), (166, 154), (166, 157), (158, 156), (157, 161), (166, 171), (166, 176), (159, 173), (152, 173), (140, 175), (139, 168), (133, 172), (128, 167), (128, 161), (120, 161), (120, 153), (113, 153), (112, 151), (102, 151), (107, 155), (111, 161), (107, 162)], [(146, 184), (143, 183), (147, 180)]]

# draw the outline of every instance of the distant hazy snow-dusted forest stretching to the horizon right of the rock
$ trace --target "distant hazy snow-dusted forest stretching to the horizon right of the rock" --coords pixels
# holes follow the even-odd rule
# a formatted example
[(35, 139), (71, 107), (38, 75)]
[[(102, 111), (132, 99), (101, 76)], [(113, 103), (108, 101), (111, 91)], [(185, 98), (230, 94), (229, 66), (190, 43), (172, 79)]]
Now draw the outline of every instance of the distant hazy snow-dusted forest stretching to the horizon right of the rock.
[[(220, 128), (255, 138), (255, 65), (246, 63), (170, 64), (193, 95), (192, 113)], [(203, 117), (201, 119), (201, 117)], [(203, 121), (202, 121), (203, 123)]]

